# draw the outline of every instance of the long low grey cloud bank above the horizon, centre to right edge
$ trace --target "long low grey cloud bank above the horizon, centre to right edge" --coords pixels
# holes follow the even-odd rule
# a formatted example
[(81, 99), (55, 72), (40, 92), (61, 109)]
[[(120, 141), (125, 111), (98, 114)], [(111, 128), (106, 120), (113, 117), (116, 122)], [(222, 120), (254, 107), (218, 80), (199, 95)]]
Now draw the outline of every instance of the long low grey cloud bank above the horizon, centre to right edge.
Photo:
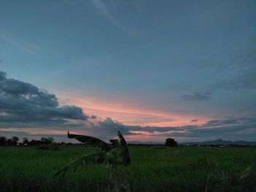
[[(230, 134), (256, 134), (256, 118), (233, 118), (227, 120), (210, 120), (199, 126), (126, 126), (122, 123), (106, 118), (99, 121), (94, 126), (94, 130), (98, 129), (101, 134), (116, 135), (117, 131), (121, 131), (124, 135), (142, 134), (148, 132), (151, 136), (156, 137), (189, 137), (189, 138), (209, 138), (209, 137), (227, 137)], [(248, 132), (249, 130), (255, 130)], [(139, 132), (134, 132), (139, 131)], [(256, 136), (256, 135), (255, 135)], [(256, 137), (255, 137), (256, 138)], [(242, 138), (239, 138), (242, 139)]]

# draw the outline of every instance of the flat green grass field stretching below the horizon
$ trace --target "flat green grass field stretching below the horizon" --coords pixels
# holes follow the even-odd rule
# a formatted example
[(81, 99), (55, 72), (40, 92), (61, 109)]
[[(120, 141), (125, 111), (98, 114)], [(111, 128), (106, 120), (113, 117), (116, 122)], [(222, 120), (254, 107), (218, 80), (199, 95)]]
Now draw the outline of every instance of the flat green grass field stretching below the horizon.
[[(0, 191), (103, 191), (109, 169), (53, 172), (94, 147), (0, 147)], [(256, 191), (255, 147), (129, 147), (132, 191)]]

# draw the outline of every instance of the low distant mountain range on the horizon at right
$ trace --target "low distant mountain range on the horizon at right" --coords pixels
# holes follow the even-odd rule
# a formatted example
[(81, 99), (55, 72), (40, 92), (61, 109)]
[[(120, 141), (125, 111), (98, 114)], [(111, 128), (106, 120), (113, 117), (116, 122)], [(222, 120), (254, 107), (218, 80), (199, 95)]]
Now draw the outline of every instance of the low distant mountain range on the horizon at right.
[(256, 146), (256, 142), (246, 142), (246, 141), (224, 141), (222, 139), (217, 139), (214, 141), (206, 141), (206, 142), (183, 142), (180, 145), (251, 145)]

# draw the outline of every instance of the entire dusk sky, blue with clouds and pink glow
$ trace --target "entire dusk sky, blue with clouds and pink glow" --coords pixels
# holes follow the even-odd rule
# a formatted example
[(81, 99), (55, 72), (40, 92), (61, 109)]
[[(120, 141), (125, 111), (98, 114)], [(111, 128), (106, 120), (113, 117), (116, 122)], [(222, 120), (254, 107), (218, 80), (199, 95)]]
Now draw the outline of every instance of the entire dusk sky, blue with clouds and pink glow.
[(0, 135), (256, 141), (255, 10), (0, 0)]

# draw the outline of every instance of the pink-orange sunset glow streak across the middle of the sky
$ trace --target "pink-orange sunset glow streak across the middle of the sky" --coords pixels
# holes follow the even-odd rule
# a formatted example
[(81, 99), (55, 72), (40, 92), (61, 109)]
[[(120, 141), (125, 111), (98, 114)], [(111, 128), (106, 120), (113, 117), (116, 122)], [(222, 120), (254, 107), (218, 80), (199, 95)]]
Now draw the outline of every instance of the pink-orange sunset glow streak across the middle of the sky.
[[(136, 107), (139, 106), (136, 102), (128, 103), (116, 100), (114, 103), (110, 103), (104, 99), (94, 99), (67, 93), (60, 93), (58, 97), (64, 101), (60, 102), (61, 105), (76, 105), (83, 108), (89, 115), (97, 115), (99, 118), (110, 117), (113, 120), (117, 120), (128, 126), (195, 126), (211, 120), (202, 116), (145, 110), (141, 107)], [(68, 98), (68, 100), (65, 100), (65, 98)], [(154, 122), (154, 120), (151, 120), (152, 122), (148, 122), (148, 117), (155, 118), (156, 121)], [(145, 118), (145, 120), (143, 120), (143, 118)], [(191, 122), (192, 119), (198, 119), (198, 121)]]

